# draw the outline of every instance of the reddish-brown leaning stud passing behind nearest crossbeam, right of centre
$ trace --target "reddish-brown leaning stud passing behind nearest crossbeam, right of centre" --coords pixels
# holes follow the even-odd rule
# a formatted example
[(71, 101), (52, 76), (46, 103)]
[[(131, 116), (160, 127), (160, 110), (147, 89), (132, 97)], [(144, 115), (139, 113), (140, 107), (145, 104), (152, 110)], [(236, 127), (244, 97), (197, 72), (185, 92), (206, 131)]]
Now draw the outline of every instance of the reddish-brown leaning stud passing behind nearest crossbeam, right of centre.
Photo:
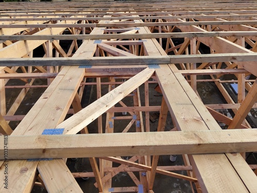
[[(169, 109), (168, 109), (167, 103), (166, 103), (165, 99), (162, 97), (157, 132), (164, 131), (165, 125), (166, 125), (166, 120), (167, 120), (167, 115), (168, 115), (168, 110)], [(150, 178), (149, 178), (149, 189), (150, 190), (152, 190), (153, 186), (154, 186), (154, 179), (155, 179), (155, 174), (156, 174), (156, 168), (158, 165), (158, 160), (159, 160), (159, 155), (154, 155), (153, 161), (152, 161), (152, 167), (151, 167), (151, 174), (150, 174)]]

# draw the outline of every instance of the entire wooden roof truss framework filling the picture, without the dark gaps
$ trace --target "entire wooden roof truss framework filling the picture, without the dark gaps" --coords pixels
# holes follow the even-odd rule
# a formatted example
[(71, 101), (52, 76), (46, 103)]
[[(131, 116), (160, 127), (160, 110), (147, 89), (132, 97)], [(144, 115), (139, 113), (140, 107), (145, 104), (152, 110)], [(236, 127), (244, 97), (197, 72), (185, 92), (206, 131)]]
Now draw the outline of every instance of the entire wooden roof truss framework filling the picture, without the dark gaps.
[[(8, 135), (9, 159), (1, 136), (0, 192), (30, 192), (34, 185), (82, 192), (79, 175), (94, 177), (99, 192), (153, 192), (156, 173), (189, 181), (193, 192), (257, 191), (256, 165), (245, 161), (245, 152), (257, 151), (256, 130), (245, 119), (257, 99), (256, 1), (1, 3), (0, 15), (0, 132)], [(34, 57), (38, 47), (42, 57)], [(200, 82), (213, 82), (226, 102), (204, 103)], [(233, 82), (236, 100), (224, 87)], [(150, 100), (153, 83), (160, 104)], [(89, 84), (97, 99), (82, 108)], [(16, 114), (36, 87), (46, 90), (28, 113)], [(11, 103), (7, 89), (19, 90)], [(156, 111), (158, 127), (151, 128)], [(174, 128), (167, 130), (167, 119)], [(16, 128), (13, 120), (21, 120)], [(89, 134), (94, 120), (98, 133)], [(117, 120), (129, 121), (117, 128)], [(51, 128), (62, 135), (42, 135)], [(182, 154), (184, 164), (157, 166), (159, 155), (170, 154)], [(68, 157), (89, 157), (93, 172), (71, 173)], [(123, 171), (135, 185), (113, 187)]]

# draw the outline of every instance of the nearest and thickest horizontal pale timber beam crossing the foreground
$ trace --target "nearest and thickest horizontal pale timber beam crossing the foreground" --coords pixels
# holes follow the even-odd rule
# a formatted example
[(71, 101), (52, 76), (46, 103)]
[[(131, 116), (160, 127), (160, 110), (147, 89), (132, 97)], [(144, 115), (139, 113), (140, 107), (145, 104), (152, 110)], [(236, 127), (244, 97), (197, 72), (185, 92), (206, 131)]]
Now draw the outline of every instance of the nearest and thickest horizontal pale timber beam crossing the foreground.
[(256, 136), (256, 129), (8, 136), (8, 159), (253, 152)]

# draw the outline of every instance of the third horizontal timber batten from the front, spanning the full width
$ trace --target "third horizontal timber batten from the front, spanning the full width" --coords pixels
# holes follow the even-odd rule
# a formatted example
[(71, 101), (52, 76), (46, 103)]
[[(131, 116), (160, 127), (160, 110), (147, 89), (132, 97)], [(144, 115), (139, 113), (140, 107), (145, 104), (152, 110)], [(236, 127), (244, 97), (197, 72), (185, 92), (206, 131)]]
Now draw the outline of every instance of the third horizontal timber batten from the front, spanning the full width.
[[(131, 28), (133, 30), (133, 28)], [(106, 40), (106, 39), (149, 39), (149, 38), (196, 38), (196, 37), (252, 37), (255, 31), (218, 31), (218, 32), (174, 32), (174, 33), (135, 33), (135, 34), (79, 34), (79, 35), (33, 35), (0, 36), (7, 40)]]

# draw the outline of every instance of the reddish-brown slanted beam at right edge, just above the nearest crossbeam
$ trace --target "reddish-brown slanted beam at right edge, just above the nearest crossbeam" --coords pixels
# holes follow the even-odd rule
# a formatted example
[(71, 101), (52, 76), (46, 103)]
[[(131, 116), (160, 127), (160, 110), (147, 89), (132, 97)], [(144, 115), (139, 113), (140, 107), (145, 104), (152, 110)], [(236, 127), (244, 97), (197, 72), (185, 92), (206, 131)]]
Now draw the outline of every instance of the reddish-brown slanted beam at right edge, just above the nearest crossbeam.
[(235, 113), (233, 120), (228, 126), (228, 129), (234, 129), (240, 127), (250, 110), (252, 109), (253, 104), (257, 101), (257, 79), (253, 83), (251, 90), (246, 95), (242, 105)]

